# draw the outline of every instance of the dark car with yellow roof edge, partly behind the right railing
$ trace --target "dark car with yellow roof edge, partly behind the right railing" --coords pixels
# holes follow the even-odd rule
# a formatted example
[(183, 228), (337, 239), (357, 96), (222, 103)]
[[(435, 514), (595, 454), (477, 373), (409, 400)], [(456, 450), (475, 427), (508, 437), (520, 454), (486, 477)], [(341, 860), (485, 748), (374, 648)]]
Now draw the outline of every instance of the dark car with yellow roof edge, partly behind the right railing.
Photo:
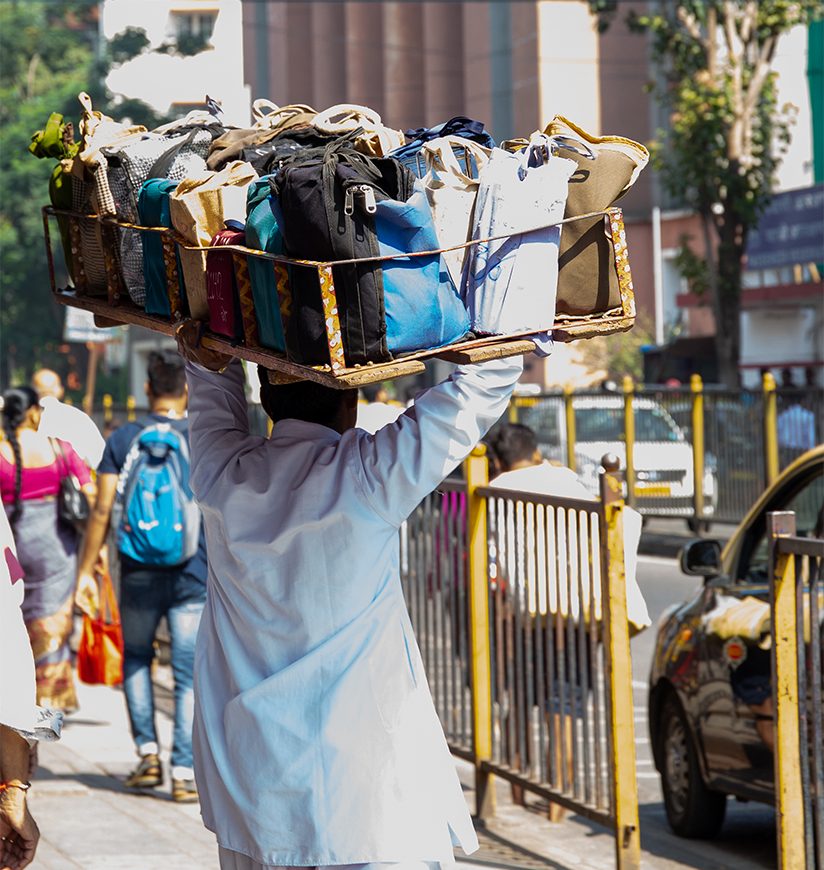
[(687, 544), (682, 570), (703, 588), (658, 625), (650, 742), (667, 818), (684, 837), (714, 836), (727, 795), (774, 800), (766, 517), (776, 510), (795, 512), (799, 536), (824, 537), (824, 445), (779, 476), (723, 549)]

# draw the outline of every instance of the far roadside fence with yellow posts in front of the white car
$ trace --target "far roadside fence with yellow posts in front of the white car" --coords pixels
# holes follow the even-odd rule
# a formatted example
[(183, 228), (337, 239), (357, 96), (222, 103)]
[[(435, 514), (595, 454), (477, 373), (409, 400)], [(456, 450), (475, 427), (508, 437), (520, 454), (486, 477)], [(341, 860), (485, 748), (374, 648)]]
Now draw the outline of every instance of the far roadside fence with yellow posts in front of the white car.
[(692, 528), (738, 522), (781, 468), (824, 441), (824, 390), (639, 388), (517, 397), (509, 419), (533, 428), (544, 455), (597, 492), (600, 456), (626, 467), (627, 501)]

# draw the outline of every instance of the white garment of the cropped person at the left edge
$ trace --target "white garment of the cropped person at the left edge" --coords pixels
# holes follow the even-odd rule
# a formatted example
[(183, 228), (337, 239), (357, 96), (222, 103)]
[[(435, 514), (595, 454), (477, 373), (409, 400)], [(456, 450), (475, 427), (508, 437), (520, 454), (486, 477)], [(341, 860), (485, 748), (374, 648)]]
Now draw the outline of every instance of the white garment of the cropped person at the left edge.
[(35, 702), (34, 657), (20, 609), (22, 577), (9, 521), (0, 510), (0, 725), (33, 744), (56, 740), (63, 714)]

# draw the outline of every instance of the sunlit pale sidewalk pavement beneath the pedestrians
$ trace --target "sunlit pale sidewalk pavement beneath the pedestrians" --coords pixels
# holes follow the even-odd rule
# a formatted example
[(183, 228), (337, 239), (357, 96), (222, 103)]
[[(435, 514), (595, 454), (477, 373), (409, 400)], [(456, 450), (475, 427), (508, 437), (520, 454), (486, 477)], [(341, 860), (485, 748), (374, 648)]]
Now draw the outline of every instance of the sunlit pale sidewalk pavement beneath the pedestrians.
[[(168, 669), (159, 668), (168, 685)], [(167, 783), (136, 795), (122, 785), (135, 763), (120, 691), (78, 685), (80, 711), (69, 717), (63, 739), (40, 747), (40, 767), (30, 792), (41, 831), (35, 870), (217, 870), (217, 848), (198, 806), (173, 803)], [(161, 694), (164, 689), (161, 689)], [(162, 701), (162, 699), (161, 699)], [(161, 703), (158, 727), (168, 750), (172, 723)], [(167, 755), (164, 760), (167, 760)], [(472, 767), (457, 762), (470, 808)], [(168, 766), (167, 766), (168, 770)], [(479, 831), (481, 850), (458, 866), (604, 870), (614, 866), (609, 832), (572, 816), (551, 824), (533, 802), (514, 806), (509, 787), (497, 782), (498, 809)], [(645, 868), (676, 870), (681, 863), (645, 856)]]

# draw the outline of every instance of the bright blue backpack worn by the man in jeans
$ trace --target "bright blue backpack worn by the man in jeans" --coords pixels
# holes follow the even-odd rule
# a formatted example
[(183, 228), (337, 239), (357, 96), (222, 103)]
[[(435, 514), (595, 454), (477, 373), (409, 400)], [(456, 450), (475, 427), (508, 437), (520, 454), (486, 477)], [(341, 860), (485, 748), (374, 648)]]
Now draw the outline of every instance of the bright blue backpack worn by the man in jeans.
[(134, 439), (117, 482), (120, 552), (171, 567), (195, 555), (200, 511), (189, 486), (189, 445), (170, 423), (149, 423)]

